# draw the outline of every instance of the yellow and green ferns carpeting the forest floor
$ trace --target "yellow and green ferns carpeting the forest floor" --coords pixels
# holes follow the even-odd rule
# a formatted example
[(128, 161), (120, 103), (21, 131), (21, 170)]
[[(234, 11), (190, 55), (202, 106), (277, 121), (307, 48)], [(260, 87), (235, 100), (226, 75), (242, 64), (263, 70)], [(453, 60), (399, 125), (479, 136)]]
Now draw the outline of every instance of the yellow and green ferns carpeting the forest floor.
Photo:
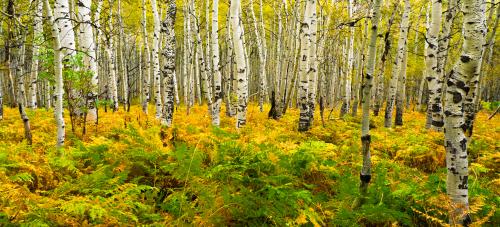
[[(206, 106), (161, 128), (151, 106), (100, 110), (97, 130), (71, 133), (55, 149), (53, 112), (28, 111), (33, 145), (7, 108), (0, 121), (2, 225), (445, 225), (443, 134), (407, 111), (404, 126), (372, 117), (372, 181), (363, 206), (360, 117), (333, 119), (297, 132), (298, 112), (280, 120), (250, 106), (239, 131), (223, 116), (210, 126)], [(266, 106), (266, 110), (269, 107)], [(360, 115), (361, 113), (359, 113)], [(224, 112), (223, 114), (224, 115)], [(479, 113), (470, 154), (470, 211), (477, 225), (500, 225), (500, 117)]]

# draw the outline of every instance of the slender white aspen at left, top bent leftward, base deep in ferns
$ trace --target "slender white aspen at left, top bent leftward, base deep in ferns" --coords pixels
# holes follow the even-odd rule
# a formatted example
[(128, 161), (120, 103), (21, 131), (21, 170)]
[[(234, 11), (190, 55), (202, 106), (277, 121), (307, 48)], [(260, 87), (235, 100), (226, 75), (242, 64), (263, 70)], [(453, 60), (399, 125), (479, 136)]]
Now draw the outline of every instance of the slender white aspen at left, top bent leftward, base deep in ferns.
[(56, 81), (55, 89), (55, 106), (54, 106), (54, 116), (56, 118), (57, 124), (57, 147), (60, 148), (64, 145), (65, 139), (65, 125), (64, 125), (64, 107), (63, 107), (63, 56), (62, 56), (62, 45), (60, 40), (59, 25), (55, 22), (52, 16), (52, 8), (50, 6), (49, 0), (45, 0), (45, 11), (47, 13), (47, 18), (51, 25), (52, 39), (54, 40), (54, 77)]

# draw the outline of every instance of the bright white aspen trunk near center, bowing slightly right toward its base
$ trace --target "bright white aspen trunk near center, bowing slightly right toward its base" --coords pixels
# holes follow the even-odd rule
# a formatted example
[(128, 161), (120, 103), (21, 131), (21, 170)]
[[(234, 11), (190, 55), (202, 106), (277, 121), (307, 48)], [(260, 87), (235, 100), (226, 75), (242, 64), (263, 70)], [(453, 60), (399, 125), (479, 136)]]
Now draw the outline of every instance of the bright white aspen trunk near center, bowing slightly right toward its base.
[(243, 43), (243, 24), (240, 18), (240, 0), (231, 0), (231, 33), (233, 39), (233, 48), (237, 66), (237, 96), (238, 108), (236, 116), (236, 128), (241, 128), (246, 124), (247, 103), (248, 103), (248, 79), (247, 62), (245, 61), (245, 50)]

